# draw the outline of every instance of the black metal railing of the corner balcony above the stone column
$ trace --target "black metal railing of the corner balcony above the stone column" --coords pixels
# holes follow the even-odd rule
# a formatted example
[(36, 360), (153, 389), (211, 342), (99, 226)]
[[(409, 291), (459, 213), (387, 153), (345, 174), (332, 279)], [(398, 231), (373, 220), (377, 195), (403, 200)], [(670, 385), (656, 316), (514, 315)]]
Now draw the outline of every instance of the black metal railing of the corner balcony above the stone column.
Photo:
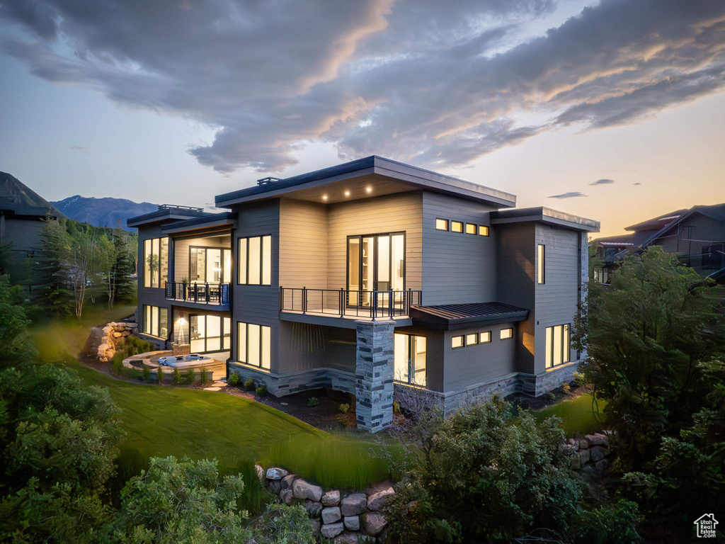
[(407, 316), (410, 306), (421, 305), (421, 291), (351, 291), (280, 287), (281, 311), (324, 313), (339, 317), (392, 318)]

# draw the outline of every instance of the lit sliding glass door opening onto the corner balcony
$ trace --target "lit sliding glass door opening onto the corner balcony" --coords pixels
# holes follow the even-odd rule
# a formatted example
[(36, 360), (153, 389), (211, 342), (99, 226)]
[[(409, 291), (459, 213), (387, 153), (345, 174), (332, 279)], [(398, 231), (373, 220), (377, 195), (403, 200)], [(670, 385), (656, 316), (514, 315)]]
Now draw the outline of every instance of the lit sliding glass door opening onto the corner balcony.
[[(347, 289), (348, 304), (363, 306), (371, 291), (405, 290), (405, 233), (348, 236)], [(378, 293), (377, 302), (388, 304), (389, 294)]]

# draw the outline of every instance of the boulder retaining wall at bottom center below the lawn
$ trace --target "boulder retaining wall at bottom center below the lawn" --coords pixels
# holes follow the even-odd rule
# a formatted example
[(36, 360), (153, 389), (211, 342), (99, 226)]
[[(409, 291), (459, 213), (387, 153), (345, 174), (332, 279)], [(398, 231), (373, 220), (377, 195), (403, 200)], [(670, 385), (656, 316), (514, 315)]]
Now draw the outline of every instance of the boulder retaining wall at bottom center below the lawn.
[(343, 493), (323, 490), (319, 485), (280, 467), (255, 465), (257, 476), (270, 492), (291, 506), (301, 504), (312, 519), (315, 534), (334, 544), (385, 544), (388, 522), (381, 509), (395, 491), (389, 482), (363, 491)]

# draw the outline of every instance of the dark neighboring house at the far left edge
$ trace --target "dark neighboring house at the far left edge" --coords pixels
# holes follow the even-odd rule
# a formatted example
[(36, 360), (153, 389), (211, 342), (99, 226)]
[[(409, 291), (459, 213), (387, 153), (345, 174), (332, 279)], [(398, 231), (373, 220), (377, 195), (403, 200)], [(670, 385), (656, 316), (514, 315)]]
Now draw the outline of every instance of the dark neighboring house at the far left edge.
[(6, 273), (11, 285), (22, 286), (30, 296), (32, 268), (36, 252), (43, 242), (43, 229), (48, 219), (57, 219), (50, 207), (30, 206), (0, 198), (0, 252), (7, 257)]

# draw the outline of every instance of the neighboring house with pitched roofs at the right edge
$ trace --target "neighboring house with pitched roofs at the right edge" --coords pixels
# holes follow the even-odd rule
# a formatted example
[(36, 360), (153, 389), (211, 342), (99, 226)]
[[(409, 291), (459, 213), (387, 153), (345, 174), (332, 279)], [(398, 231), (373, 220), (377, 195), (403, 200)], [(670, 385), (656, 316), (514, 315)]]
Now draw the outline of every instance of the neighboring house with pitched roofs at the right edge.
[(595, 239), (597, 257), (595, 278), (609, 283), (610, 274), (626, 255), (656, 245), (678, 255), (685, 265), (703, 277), (723, 282), (725, 277), (725, 203), (693, 206), (628, 226), (631, 234)]

